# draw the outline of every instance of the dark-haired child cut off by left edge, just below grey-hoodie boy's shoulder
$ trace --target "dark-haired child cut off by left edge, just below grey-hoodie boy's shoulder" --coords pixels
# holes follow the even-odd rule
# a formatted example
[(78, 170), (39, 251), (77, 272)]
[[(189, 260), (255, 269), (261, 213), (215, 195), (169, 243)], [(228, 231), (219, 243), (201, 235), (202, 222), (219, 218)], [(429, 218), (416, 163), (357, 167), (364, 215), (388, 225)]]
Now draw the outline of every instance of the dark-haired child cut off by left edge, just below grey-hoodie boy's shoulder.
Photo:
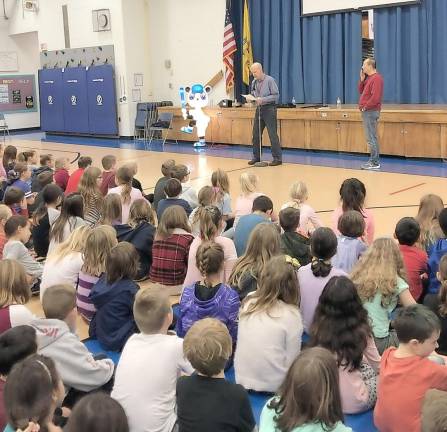
[(28, 325), (0, 334), (0, 430), (7, 424), (3, 393), (13, 366), (37, 352), (36, 331)]

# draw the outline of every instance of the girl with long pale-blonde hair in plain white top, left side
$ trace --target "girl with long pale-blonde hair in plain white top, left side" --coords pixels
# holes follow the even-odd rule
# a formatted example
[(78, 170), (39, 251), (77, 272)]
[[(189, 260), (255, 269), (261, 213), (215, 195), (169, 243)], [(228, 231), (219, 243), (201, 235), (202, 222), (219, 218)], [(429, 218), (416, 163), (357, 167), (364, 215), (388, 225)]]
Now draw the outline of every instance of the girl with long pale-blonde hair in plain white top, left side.
[(79, 272), (84, 262), (82, 253), (90, 228), (87, 225), (76, 228), (67, 240), (57, 245), (47, 256), (40, 283), (40, 299), (45, 290), (56, 284), (76, 287)]

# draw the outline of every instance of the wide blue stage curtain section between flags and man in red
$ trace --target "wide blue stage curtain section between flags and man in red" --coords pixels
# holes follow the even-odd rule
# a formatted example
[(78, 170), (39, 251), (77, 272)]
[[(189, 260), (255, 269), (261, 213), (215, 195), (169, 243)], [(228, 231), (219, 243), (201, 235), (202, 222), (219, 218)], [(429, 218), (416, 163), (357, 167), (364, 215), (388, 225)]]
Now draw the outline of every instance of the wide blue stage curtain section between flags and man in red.
[[(233, 25), (241, 40), (243, 0), (233, 0)], [(254, 60), (278, 83), (280, 101), (358, 101), (362, 61), (361, 14), (301, 18), (301, 0), (249, 0)], [(238, 53), (239, 54), (239, 53)], [(236, 55), (236, 63), (240, 56)], [(246, 91), (236, 69), (236, 97)]]

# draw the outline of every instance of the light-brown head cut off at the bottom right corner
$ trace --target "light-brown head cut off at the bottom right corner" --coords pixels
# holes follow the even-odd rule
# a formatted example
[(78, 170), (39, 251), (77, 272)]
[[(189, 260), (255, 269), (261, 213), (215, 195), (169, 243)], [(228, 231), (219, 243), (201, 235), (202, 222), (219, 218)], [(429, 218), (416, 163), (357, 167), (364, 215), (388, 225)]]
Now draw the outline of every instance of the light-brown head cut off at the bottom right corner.
[(429, 390), (422, 405), (421, 432), (443, 432), (447, 430), (447, 392)]

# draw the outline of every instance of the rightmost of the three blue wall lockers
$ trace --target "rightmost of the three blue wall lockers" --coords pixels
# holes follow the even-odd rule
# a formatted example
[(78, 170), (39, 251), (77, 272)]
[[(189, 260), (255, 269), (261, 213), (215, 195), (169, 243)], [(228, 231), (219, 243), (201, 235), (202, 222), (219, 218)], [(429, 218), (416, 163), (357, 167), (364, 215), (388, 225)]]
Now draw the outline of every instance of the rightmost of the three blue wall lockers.
[(112, 65), (88, 68), (87, 93), (90, 133), (118, 135), (115, 80)]

